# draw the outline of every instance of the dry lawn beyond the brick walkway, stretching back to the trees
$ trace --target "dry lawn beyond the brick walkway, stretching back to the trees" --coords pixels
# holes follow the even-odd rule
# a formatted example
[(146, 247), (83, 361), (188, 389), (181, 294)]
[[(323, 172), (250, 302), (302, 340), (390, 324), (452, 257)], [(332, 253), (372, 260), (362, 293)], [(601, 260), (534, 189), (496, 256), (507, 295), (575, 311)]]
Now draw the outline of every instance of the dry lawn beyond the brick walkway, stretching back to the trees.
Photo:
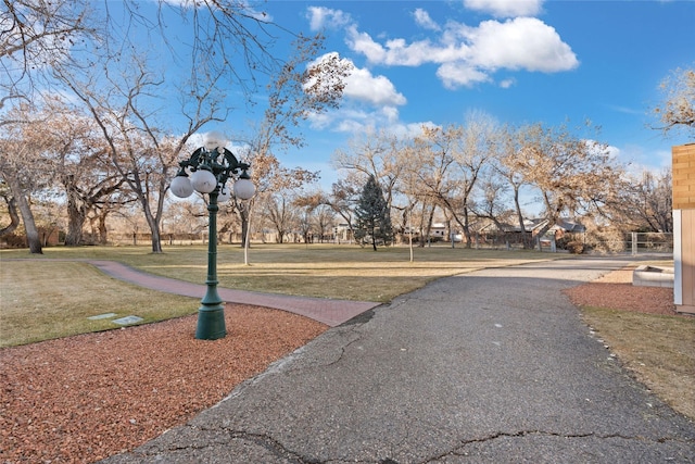
[[(249, 256), (250, 265), (244, 265), (243, 250), (239, 246), (217, 247), (220, 287), (387, 302), (438, 277), (566, 255), (441, 246), (416, 248), (415, 259), (410, 262), (405, 247), (375, 252), (357, 246), (254, 244)], [(203, 284), (207, 273), (205, 246), (164, 247), (164, 252), (159, 254), (149, 252), (149, 247), (60, 247), (48, 248), (38, 256), (29, 255), (26, 250), (0, 252), (0, 260), (11, 258), (114, 260), (148, 273), (194, 284)], [(7, 266), (17, 264), (12, 262)]]

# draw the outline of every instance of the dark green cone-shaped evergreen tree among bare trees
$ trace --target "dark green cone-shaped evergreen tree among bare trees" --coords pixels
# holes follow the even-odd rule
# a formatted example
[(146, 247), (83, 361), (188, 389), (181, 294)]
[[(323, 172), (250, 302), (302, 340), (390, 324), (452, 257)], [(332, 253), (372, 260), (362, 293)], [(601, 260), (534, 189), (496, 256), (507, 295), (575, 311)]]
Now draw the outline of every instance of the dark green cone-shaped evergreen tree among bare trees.
[(367, 184), (362, 189), (355, 216), (357, 218), (355, 239), (358, 242), (371, 242), (375, 251), (377, 251), (377, 242), (391, 243), (393, 230), (391, 228), (389, 205), (383, 198), (379, 183), (374, 176), (369, 176)]

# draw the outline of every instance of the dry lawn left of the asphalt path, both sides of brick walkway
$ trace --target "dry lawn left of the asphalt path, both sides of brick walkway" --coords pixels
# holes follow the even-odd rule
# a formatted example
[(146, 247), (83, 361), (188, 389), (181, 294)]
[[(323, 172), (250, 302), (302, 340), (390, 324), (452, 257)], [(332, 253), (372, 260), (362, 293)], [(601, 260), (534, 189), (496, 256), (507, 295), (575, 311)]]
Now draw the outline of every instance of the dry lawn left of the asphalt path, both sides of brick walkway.
[[(386, 302), (446, 275), (558, 255), (533, 251), (476, 251), (464, 248), (407, 248), (374, 252), (356, 246), (254, 246), (244, 265), (238, 246), (218, 246), (219, 286), (243, 290)], [(20, 261), (15, 261), (20, 259)], [(162, 293), (122, 283), (86, 262), (113, 260), (148, 273), (203, 284), (207, 247), (53, 247), (42, 255), (0, 251), (0, 347), (31, 343), (117, 327), (111, 319), (87, 317), (115, 313), (142, 323), (192, 314), (199, 299)], [(202, 294), (201, 294), (202, 298)]]

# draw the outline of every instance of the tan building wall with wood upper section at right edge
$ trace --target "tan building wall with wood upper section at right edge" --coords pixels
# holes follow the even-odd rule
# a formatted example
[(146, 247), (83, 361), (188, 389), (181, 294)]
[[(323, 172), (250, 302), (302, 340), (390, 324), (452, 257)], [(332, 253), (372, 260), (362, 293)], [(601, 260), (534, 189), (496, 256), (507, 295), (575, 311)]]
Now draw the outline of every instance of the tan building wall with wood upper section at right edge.
[[(673, 210), (680, 217), (674, 230), (673, 260), (677, 267), (674, 283), (675, 309), (695, 313), (695, 143), (673, 147)], [(674, 224), (675, 225), (675, 224)]]

